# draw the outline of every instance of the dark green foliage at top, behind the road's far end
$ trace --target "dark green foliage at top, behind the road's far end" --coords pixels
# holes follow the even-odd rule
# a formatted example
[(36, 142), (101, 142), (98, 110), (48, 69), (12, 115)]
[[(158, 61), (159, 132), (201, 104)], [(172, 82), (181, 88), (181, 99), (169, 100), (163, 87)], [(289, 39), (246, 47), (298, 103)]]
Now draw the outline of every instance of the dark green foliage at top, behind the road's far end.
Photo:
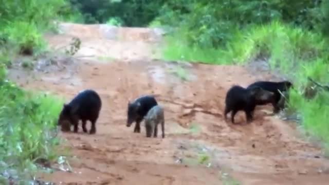
[(85, 23), (106, 23), (116, 20), (124, 26), (147, 26), (159, 15), (166, 1), (158, 0), (70, 0), (71, 9), (79, 11)]

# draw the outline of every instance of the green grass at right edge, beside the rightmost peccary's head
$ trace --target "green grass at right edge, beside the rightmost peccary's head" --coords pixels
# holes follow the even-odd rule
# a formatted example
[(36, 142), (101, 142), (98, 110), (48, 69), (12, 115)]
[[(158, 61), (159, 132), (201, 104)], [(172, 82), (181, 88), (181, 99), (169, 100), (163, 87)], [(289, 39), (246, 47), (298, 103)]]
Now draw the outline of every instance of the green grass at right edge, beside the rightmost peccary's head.
[(317, 89), (318, 93), (312, 99), (305, 98), (304, 89), (309, 86), (306, 77), (311, 77), (322, 84), (328, 84), (328, 60), (318, 58), (308, 61), (295, 69), (295, 84), (297, 89), (290, 90), (289, 108), (296, 110), (302, 117), (302, 126), (306, 132), (324, 141), (329, 146), (329, 125), (326, 118), (329, 114), (329, 92)]

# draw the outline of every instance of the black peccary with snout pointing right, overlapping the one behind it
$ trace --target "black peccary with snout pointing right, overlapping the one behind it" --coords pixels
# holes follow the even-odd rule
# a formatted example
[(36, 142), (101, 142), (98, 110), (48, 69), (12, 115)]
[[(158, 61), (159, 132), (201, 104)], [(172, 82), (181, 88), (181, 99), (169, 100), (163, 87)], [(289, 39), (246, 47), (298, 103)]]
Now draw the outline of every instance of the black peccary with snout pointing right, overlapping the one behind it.
[(246, 114), (247, 123), (252, 121), (252, 114), (257, 101), (273, 99), (274, 94), (261, 87), (254, 86), (249, 89), (239, 85), (232, 86), (226, 94), (224, 118), (231, 112), (231, 121), (234, 123), (234, 116), (239, 110)]

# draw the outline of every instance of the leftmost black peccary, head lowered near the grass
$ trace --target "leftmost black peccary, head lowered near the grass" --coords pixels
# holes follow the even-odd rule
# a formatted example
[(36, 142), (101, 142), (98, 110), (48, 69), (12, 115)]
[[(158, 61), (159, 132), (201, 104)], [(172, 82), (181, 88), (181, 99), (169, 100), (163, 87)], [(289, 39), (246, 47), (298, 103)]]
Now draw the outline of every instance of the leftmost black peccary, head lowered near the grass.
[(79, 120), (82, 120), (82, 130), (87, 133), (87, 120), (92, 122), (89, 134), (96, 133), (96, 121), (99, 117), (102, 101), (96, 91), (86, 89), (72, 99), (68, 104), (64, 104), (60, 113), (58, 125), (62, 131), (70, 131), (70, 126), (74, 125), (74, 132), (78, 132)]

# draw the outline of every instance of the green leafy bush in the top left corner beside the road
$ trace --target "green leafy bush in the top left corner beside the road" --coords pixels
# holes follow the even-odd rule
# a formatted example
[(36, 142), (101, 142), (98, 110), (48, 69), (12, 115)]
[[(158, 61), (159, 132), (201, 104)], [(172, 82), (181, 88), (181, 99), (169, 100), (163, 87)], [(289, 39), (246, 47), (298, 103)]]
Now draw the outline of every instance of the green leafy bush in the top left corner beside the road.
[(66, 0), (3, 1), (0, 7), (0, 36), (31, 54), (45, 46), (41, 33), (50, 29)]

